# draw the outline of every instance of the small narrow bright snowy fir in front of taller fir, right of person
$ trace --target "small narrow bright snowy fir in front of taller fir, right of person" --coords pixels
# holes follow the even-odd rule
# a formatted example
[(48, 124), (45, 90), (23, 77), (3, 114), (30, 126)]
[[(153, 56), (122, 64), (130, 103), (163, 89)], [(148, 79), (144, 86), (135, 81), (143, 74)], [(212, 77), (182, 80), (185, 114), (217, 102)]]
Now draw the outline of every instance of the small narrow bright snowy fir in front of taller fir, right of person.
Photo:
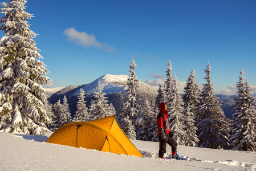
[(199, 140), (197, 139), (197, 127), (194, 125), (194, 113), (191, 112), (192, 108), (187, 105), (184, 111), (186, 117), (185, 130), (188, 137), (185, 139), (185, 145), (197, 146)]

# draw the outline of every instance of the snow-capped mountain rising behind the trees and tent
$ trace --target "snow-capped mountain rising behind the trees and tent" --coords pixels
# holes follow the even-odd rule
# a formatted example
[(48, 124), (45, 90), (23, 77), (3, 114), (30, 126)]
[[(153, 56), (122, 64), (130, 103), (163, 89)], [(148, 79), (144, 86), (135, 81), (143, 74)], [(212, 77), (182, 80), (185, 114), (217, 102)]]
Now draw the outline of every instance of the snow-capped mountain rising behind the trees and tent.
[[(103, 85), (103, 92), (106, 93), (105, 96), (108, 97), (109, 103), (112, 103), (115, 109), (120, 111), (120, 106), (122, 103), (121, 95), (125, 92), (125, 89), (127, 89), (127, 80), (127, 75), (103, 75), (90, 84), (84, 84), (81, 86), (68, 86), (63, 88), (49, 97), (48, 101), (51, 104), (54, 104), (60, 99), (62, 102), (63, 97), (66, 96), (68, 99), (68, 104), (70, 105), (70, 111), (72, 115), (74, 115), (76, 110), (76, 103), (78, 101), (77, 94), (80, 91), (80, 88), (84, 89), (84, 92), (86, 92), (85, 100), (87, 101), (87, 107), (89, 107), (91, 101), (94, 100), (94, 92), (96, 92), (96, 87), (100, 81)], [(149, 101), (153, 102), (157, 95), (158, 88), (150, 86), (149, 84), (141, 82), (140, 80), (138, 85), (138, 92), (143, 97), (143, 99), (148, 99)]]

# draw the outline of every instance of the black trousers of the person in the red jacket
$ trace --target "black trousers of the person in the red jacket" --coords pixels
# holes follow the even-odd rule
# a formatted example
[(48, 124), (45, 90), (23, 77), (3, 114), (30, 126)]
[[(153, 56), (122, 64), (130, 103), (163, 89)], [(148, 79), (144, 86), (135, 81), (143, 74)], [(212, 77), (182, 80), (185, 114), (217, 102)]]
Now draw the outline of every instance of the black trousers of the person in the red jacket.
[(164, 153), (166, 153), (166, 144), (169, 144), (172, 147), (172, 152), (176, 152), (177, 150), (177, 143), (170, 137), (170, 135), (166, 135), (166, 141), (162, 140), (159, 136), (159, 157), (164, 157)]

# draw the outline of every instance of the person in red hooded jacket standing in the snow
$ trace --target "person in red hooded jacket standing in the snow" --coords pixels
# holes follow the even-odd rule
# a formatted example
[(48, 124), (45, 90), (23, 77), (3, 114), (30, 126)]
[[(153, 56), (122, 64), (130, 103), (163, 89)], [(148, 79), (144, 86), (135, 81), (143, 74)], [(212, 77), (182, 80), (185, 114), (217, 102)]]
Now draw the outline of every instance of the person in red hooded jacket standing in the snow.
[(164, 158), (166, 144), (172, 147), (172, 158), (176, 158), (177, 143), (170, 132), (168, 112), (166, 103), (159, 104), (160, 113), (157, 115), (157, 135), (159, 136), (159, 158)]

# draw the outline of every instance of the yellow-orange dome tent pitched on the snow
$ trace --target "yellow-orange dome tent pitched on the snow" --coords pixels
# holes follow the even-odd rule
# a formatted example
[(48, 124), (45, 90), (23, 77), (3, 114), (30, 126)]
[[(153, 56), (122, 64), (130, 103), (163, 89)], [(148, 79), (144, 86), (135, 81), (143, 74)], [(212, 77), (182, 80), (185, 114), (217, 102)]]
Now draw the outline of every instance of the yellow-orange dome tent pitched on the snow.
[(119, 127), (115, 116), (65, 124), (46, 142), (143, 157)]

